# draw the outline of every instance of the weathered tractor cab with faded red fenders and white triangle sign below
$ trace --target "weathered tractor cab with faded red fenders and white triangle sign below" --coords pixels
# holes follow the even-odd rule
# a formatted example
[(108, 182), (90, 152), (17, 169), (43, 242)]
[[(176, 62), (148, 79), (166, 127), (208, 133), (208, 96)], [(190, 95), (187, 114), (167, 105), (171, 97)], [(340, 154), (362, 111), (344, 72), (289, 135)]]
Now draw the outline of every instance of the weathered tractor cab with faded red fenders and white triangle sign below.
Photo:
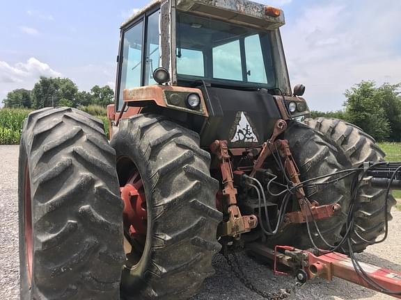
[[(308, 106), (290, 88), (279, 28), (282, 10), (251, 1), (153, 1), (121, 26), (111, 121), (154, 112), (201, 135), (252, 147), (278, 119)], [(155, 72), (157, 70), (157, 72)]]

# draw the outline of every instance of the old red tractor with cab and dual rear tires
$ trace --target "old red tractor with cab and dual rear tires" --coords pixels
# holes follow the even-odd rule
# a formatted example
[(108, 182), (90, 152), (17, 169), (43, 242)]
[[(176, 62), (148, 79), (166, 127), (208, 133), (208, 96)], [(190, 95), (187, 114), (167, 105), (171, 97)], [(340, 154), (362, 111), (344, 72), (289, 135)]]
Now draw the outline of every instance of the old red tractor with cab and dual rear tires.
[(75, 108), (26, 118), (21, 299), (189, 299), (217, 253), (352, 254), (384, 233), (384, 153), (361, 128), (307, 118), (284, 24), (248, 0), (152, 1), (121, 26), (109, 136)]

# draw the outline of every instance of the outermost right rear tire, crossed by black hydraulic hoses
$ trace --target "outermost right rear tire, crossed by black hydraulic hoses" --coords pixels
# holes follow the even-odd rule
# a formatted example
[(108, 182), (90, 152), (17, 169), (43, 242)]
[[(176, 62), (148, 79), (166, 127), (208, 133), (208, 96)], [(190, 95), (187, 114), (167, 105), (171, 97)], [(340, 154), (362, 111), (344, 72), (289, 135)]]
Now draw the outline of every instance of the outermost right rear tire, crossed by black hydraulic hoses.
[[(306, 119), (305, 124), (322, 133), (325, 138), (336, 145), (338, 151), (343, 153), (338, 158), (347, 167), (360, 167), (363, 162), (374, 163), (384, 160), (386, 153), (380, 149), (375, 140), (364, 133), (361, 128), (344, 122), (340, 119), (319, 117)], [(354, 215), (356, 231), (365, 240), (374, 241), (384, 233), (384, 203), (386, 191), (371, 188), (365, 184), (361, 186), (357, 203), (359, 209)], [(391, 220), (391, 208), (397, 203), (394, 197), (388, 197), (388, 219)], [(352, 235), (352, 248), (355, 252), (362, 252), (369, 244), (361, 240), (357, 235)]]

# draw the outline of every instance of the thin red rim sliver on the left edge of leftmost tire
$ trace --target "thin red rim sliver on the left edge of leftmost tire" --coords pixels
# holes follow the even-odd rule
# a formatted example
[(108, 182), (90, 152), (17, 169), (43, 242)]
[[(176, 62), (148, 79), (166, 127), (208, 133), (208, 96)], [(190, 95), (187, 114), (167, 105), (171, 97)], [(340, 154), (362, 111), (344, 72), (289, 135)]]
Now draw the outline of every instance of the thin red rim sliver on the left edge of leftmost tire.
[(25, 238), (25, 258), (28, 267), (29, 285), (32, 281), (33, 265), (33, 235), (32, 235), (32, 199), (31, 199), (31, 181), (29, 179), (28, 165), (25, 167), (24, 180), (24, 238)]

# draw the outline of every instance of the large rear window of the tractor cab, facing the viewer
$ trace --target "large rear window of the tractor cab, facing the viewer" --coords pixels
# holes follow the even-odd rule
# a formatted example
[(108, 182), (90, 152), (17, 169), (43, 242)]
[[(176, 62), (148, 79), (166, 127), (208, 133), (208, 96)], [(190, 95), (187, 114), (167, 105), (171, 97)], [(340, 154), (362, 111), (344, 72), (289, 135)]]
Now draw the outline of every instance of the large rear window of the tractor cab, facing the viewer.
[(274, 88), (270, 33), (179, 12), (177, 73), (181, 81)]

